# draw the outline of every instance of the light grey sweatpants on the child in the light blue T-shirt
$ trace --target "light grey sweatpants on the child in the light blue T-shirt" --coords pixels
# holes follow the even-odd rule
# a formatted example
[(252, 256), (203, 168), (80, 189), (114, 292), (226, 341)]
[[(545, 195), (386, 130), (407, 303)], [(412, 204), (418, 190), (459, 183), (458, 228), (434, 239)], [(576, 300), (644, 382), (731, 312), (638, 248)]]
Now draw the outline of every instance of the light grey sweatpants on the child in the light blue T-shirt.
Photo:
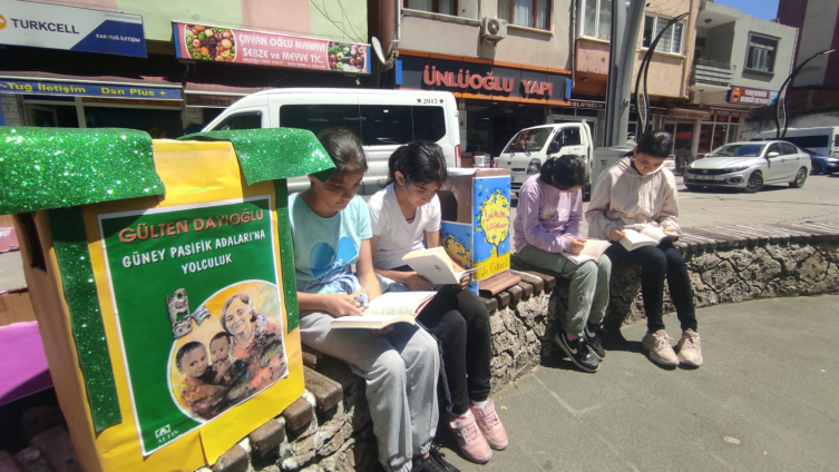
[(301, 313), (303, 344), (351, 364), (364, 378), (379, 461), (388, 471), (410, 471), (411, 459), (429, 451), (437, 429), (437, 342), (406, 323), (379, 336), (370, 330), (331, 330), (332, 319)]

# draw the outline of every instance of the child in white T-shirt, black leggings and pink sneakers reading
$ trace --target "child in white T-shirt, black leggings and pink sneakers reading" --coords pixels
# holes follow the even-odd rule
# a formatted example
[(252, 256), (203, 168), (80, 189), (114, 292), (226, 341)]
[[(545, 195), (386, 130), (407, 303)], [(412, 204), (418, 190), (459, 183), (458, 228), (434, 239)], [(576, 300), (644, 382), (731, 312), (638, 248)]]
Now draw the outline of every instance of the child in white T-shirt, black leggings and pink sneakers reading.
[[(437, 190), (447, 177), (446, 158), (436, 144), (416, 141), (397, 149), (388, 167), (390, 185), (370, 198), (375, 272), (411, 291), (432, 289), (402, 258), (441, 244)], [(450, 263), (455, 273), (462, 272)], [(469, 279), (465, 274), (457, 284), (443, 285), (417, 319), (441, 344), (447, 423), (464, 455), (485, 463), (491, 449), (505, 449), (509, 441), (489, 399), (489, 313), (465, 289)]]

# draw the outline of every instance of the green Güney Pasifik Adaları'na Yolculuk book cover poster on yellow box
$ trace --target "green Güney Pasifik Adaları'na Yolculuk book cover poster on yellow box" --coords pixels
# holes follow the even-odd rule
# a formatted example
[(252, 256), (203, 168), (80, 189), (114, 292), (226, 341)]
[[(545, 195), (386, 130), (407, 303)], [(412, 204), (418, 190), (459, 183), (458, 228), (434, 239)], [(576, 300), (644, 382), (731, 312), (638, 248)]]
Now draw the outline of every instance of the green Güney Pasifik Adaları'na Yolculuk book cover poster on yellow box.
[(144, 455), (287, 375), (270, 196), (99, 225)]

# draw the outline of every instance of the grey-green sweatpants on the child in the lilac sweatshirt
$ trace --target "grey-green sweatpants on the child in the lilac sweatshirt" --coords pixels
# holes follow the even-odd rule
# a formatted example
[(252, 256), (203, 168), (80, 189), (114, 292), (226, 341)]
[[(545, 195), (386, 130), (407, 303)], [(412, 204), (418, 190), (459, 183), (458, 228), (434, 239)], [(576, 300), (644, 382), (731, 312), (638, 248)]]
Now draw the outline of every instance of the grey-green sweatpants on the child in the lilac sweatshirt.
[(565, 318), (559, 319), (566, 333), (583, 336), (586, 322), (599, 323), (606, 316), (612, 260), (605, 254), (597, 264), (587, 260), (577, 265), (562, 254), (527, 245), (518, 253), (518, 257), (534, 267), (570, 279), (568, 309)]

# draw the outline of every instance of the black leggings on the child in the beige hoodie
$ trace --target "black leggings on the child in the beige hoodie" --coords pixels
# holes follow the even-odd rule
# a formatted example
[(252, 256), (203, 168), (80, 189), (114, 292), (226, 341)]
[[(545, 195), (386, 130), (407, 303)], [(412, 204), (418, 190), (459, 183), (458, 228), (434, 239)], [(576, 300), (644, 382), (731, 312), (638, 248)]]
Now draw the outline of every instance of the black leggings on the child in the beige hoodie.
[(613, 259), (626, 259), (641, 265), (641, 297), (650, 332), (664, 330), (662, 304), (664, 303), (664, 276), (667, 276), (670, 297), (676, 307), (682, 330), (696, 331), (696, 314), (693, 308), (693, 288), (682, 253), (665, 240), (657, 246), (626, 250), (620, 243), (612, 243), (606, 255)]

